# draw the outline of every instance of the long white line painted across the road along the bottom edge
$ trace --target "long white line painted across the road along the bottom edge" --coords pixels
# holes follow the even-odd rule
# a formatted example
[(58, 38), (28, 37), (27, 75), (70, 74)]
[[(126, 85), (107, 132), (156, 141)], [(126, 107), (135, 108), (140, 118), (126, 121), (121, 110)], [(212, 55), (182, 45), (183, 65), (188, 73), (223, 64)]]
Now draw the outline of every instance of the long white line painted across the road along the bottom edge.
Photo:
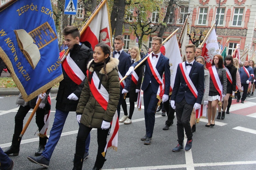
[(180, 164), (180, 165), (161, 165), (161, 166), (148, 166), (148, 167), (129, 167), (129, 168), (115, 168), (105, 170), (155, 170), (155, 169), (177, 169), (177, 168), (194, 168), (194, 167), (212, 167), (224, 165), (246, 165), (256, 164), (256, 161), (236, 161), (236, 162), (217, 162), (217, 163), (200, 163), (200, 164)]

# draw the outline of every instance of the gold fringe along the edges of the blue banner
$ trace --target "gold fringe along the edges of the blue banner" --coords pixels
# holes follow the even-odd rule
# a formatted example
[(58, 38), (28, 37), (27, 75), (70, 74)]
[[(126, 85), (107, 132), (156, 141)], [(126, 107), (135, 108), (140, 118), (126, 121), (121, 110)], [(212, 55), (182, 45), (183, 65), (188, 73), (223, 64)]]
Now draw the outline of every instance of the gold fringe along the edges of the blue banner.
[(34, 97), (38, 96), (38, 94), (48, 90), (49, 88), (53, 87), (55, 84), (57, 84), (58, 82), (60, 82), (61, 80), (63, 80), (63, 74), (61, 74), (59, 77), (56, 77), (54, 80), (52, 80), (51, 82), (45, 84), (44, 86), (42, 86), (41, 88), (39, 88), (38, 90), (34, 91), (33, 93), (31, 93), (30, 95), (28, 95), (24, 89), (24, 87), (22, 86), (22, 83), (19, 81), (18, 77), (16, 76), (14, 69), (13, 69), (13, 65), (11, 60), (9, 59), (9, 57), (6, 55), (6, 53), (4, 52), (4, 50), (1, 48), (0, 46), (0, 56), (2, 58), (2, 60), (4, 61), (4, 63), (6, 64), (6, 66), (9, 68), (13, 81), (15, 82), (15, 84), (17, 85), (17, 88), (19, 89), (20, 93), (22, 94), (23, 99), (28, 102), (31, 99), (33, 99)]

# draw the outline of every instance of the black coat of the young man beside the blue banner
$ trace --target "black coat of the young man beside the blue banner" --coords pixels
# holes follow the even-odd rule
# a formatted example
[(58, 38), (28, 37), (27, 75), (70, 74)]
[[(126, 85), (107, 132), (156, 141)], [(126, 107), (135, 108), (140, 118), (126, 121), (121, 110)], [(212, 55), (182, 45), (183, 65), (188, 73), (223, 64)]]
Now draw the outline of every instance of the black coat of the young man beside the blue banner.
[[(70, 50), (70, 57), (73, 59), (73, 61), (77, 64), (77, 66), (86, 76), (86, 65), (88, 61), (90, 61), (93, 58), (93, 49), (87, 47), (84, 44), (75, 44), (74, 48)], [(74, 93), (78, 98), (80, 98), (82, 89), (84, 87), (85, 79), (81, 84), (78, 85), (69, 78), (63, 67), (62, 72), (64, 79), (60, 81), (59, 84), (59, 90), (56, 97), (56, 109), (61, 111), (76, 111), (79, 99), (76, 101), (70, 100), (68, 99), (68, 96), (71, 93)]]

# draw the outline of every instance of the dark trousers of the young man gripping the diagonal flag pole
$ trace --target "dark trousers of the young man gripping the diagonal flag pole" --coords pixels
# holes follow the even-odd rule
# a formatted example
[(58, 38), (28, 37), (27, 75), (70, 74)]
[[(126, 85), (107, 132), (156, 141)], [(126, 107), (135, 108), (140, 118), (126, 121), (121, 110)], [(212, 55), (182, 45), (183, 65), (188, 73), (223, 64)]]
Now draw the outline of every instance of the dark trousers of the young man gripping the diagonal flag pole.
[(144, 99), (144, 116), (145, 116), (145, 126), (146, 135), (151, 138), (153, 135), (154, 125), (155, 125), (155, 113), (158, 103), (158, 98), (156, 98), (156, 93), (153, 92), (151, 84), (148, 85), (147, 89), (143, 92)]

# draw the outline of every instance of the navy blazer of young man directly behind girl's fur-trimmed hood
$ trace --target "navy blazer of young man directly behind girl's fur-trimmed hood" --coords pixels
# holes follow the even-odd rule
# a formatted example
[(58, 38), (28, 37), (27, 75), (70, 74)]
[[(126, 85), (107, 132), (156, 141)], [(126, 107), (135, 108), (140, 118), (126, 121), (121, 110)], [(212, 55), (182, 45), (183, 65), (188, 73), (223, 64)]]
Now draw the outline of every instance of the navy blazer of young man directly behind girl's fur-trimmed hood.
[[(114, 56), (114, 53), (112, 55)], [(120, 56), (118, 58), (119, 60), (119, 64), (118, 64), (118, 71), (120, 72), (120, 74), (122, 75), (122, 77), (125, 77), (125, 74), (128, 72), (130, 66), (131, 66), (131, 56), (124, 52), (124, 50), (120, 53)], [(131, 76), (128, 76), (125, 80), (125, 90), (130, 89), (130, 85), (131, 85)], [(123, 87), (120, 85), (120, 92), (122, 93)]]

